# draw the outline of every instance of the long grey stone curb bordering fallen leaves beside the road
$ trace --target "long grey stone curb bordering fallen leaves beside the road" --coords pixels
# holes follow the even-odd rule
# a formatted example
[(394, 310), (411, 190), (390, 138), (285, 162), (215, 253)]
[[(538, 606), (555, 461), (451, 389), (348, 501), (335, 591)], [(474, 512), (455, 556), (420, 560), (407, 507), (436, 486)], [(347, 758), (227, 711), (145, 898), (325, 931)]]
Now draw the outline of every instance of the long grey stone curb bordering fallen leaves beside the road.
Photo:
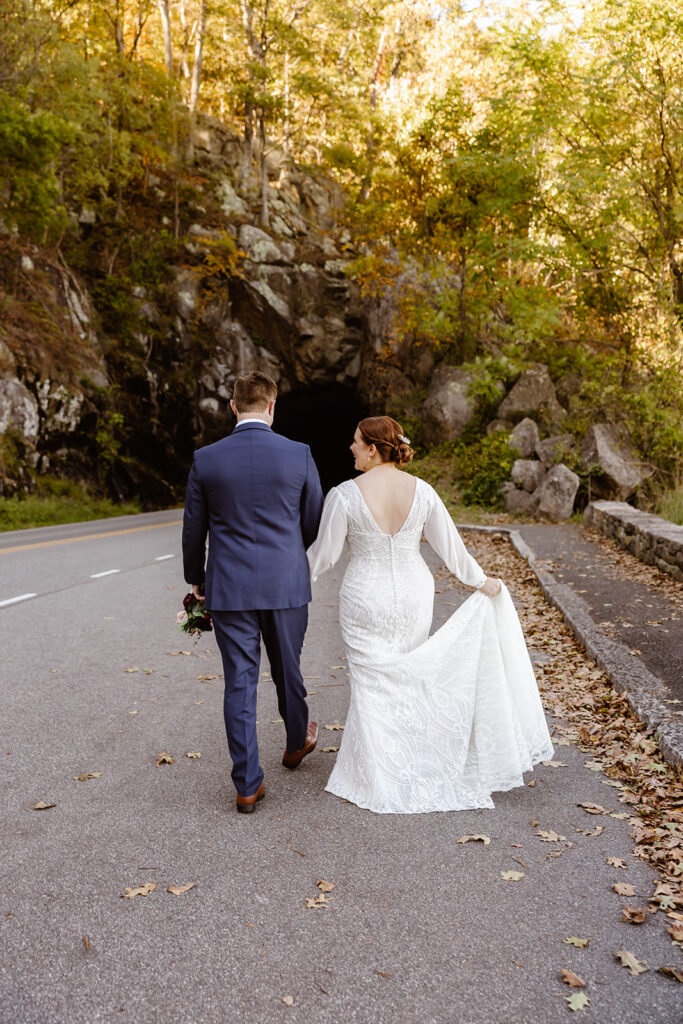
[(536, 553), (513, 526), (463, 523), (458, 529), (508, 535), (515, 550), (536, 574), (546, 598), (561, 612), (586, 652), (600, 666), (614, 689), (625, 694), (638, 718), (652, 730), (666, 760), (674, 766), (683, 765), (683, 722), (673, 718), (664, 702), (673, 696), (666, 683), (652, 675), (625, 644), (600, 631), (586, 601), (566, 584), (558, 583), (552, 572), (540, 567)]

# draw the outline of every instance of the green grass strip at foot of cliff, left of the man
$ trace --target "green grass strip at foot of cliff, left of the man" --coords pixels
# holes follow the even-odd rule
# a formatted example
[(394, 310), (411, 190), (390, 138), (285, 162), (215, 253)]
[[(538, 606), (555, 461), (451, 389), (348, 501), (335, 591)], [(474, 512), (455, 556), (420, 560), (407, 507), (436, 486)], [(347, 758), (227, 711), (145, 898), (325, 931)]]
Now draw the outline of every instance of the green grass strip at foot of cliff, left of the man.
[(136, 502), (121, 505), (108, 498), (97, 498), (71, 480), (41, 477), (39, 488), (35, 495), (0, 498), (0, 531), (136, 515), (140, 511)]

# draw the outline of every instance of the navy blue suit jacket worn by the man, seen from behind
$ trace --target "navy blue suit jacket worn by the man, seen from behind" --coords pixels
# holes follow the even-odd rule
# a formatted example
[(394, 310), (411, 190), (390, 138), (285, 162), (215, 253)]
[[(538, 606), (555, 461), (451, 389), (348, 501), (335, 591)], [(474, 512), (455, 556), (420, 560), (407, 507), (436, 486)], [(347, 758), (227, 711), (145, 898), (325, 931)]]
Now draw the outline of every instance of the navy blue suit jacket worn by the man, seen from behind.
[(273, 433), (265, 423), (238, 424), (227, 437), (195, 453), (182, 523), (185, 581), (206, 585), (213, 611), (306, 604), (306, 548), (315, 540), (322, 510), (308, 445)]

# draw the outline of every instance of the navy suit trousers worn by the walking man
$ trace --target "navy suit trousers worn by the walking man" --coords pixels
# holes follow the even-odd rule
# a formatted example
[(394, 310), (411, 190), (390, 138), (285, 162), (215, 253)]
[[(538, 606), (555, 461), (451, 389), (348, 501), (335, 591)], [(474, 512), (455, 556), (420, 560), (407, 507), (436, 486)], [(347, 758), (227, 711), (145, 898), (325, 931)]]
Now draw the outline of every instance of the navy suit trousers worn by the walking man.
[(308, 706), (299, 662), (308, 625), (308, 605), (261, 611), (212, 611), (211, 618), (225, 675), (223, 716), (232, 759), (232, 781), (241, 797), (249, 797), (263, 780), (256, 737), (261, 637), (285, 723), (287, 750), (298, 751), (306, 741)]

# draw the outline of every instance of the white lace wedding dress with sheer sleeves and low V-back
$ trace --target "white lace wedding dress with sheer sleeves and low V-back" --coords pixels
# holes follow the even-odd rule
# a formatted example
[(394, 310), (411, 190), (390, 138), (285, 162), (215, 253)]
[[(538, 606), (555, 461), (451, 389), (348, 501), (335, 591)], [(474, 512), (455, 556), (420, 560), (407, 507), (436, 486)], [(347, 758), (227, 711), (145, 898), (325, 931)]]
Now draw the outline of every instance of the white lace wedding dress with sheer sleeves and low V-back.
[(493, 807), (490, 794), (523, 785), (553, 748), (519, 618), (506, 587), (472, 594), (429, 637), (434, 582), (425, 536), (463, 583), (485, 573), (436, 494), (417, 479), (397, 534), (383, 534), (360, 488), (329, 493), (308, 549), (311, 578), (348, 542), (339, 595), (351, 696), (326, 788), (377, 812)]

